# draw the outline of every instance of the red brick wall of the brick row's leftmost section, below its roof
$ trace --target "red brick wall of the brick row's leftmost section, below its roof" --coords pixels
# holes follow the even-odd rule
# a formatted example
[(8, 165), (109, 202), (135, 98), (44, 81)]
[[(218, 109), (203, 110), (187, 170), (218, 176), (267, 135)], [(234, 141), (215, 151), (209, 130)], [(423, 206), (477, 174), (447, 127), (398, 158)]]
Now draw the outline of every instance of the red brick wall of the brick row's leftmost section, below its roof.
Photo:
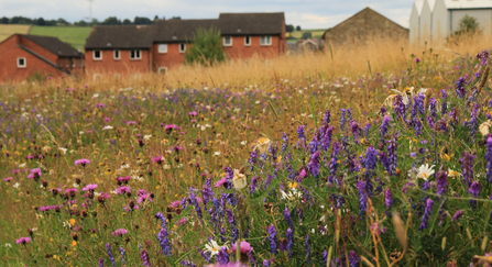
[(101, 49), (102, 59), (95, 60), (92, 49), (86, 51), (86, 73), (92, 74), (133, 74), (149, 73), (152, 66), (152, 54), (149, 49), (141, 49), (141, 59), (130, 59), (130, 49), (120, 49), (120, 59), (114, 59), (113, 49)]

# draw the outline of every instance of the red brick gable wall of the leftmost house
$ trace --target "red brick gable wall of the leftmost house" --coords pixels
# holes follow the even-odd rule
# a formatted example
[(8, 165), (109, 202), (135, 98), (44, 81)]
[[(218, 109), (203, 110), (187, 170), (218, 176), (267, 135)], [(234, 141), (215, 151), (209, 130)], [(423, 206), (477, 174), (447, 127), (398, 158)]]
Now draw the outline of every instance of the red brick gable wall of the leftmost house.
[[(62, 75), (62, 71), (58, 69), (18, 47), (18, 37), (20, 38), (19, 35), (13, 35), (0, 43), (0, 81), (24, 80), (36, 71), (42, 75)], [(25, 68), (18, 68), (18, 57), (25, 57)]]

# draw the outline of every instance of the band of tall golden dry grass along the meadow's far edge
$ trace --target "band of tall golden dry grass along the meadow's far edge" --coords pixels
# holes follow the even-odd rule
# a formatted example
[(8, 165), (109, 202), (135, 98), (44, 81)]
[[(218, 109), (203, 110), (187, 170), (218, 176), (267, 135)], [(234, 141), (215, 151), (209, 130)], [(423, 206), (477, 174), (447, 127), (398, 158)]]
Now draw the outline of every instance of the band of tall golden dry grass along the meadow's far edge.
[[(409, 44), (407, 40), (371, 38), (367, 43), (346, 43), (340, 46), (325, 46), (319, 52), (298, 54), (287, 53), (274, 59), (253, 57), (248, 60), (232, 59), (211, 67), (201, 65), (182, 66), (170, 69), (167, 74), (142, 74), (114, 78), (105, 74), (102, 79), (94, 79), (91, 75), (69, 76), (64, 78), (67, 87), (100, 89), (118, 89), (122, 87), (144, 87), (155, 90), (177, 87), (201, 88), (229, 87), (243, 88), (258, 86), (269, 88), (287, 79), (297, 85), (307, 85), (310, 79), (331, 80), (338, 77), (356, 78), (359, 76), (387, 73), (401, 74), (413, 66), (411, 55), (425, 56), (423, 52), (433, 48), (438, 57), (436, 64), (449, 63), (466, 55), (474, 55), (488, 48), (492, 36), (468, 35), (452, 37), (442, 42), (420, 42)], [(59, 79), (59, 78), (58, 78)], [(59, 82), (54, 82), (59, 84)], [(293, 85), (294, 85), (293, 84)], [(32, 93), (46, 90), (45, 82), (17, 82), (7, 87), (17, 92)]]

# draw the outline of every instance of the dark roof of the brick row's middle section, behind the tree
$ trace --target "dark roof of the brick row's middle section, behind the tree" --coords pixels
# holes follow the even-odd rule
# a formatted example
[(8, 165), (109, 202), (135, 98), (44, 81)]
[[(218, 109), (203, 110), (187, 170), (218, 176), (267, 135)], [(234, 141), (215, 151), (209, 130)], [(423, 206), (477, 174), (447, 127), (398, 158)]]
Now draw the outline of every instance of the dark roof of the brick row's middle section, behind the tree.
[(157, 21), (153, 31), (153, 42), (189, 42), (198, 29), (218, 29), (218, 20), (167, 20)]

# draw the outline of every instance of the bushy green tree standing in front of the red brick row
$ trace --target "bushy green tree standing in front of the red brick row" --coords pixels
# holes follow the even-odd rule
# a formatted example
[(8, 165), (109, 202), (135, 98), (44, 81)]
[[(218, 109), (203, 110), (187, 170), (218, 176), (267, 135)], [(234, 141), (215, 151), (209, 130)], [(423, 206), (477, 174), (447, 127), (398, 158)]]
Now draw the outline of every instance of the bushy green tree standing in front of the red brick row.
[(185, 55), (185, 64), (199, 63), (210, 66), (226, 60), (222, 52), (222, 37), (220, 31), (215, 27), (209, 30), (199, 27), (194, 36), (194, 45)]

